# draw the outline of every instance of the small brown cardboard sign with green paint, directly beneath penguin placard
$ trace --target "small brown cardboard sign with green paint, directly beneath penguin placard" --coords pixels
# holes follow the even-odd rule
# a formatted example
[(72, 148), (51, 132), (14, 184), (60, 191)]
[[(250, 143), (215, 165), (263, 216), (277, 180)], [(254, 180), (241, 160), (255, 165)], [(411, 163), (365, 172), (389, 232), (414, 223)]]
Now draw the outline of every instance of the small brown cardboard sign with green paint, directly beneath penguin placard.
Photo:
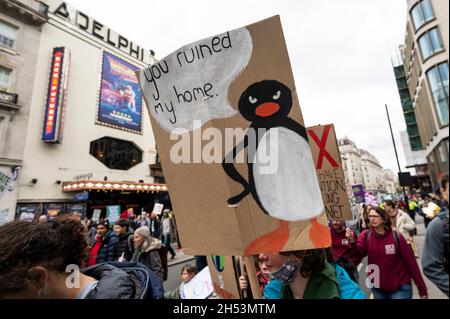
[(240, 299), (237, 263), (233, 256), (208, 256), (214, 291), (222, 299)]

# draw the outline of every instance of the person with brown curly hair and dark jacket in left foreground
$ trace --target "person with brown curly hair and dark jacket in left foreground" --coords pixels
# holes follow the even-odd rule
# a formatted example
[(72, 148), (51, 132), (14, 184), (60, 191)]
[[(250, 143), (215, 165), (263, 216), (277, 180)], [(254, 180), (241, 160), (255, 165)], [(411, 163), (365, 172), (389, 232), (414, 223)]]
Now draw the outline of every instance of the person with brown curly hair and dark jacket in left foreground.
[(79, 271), (87, 247), (85, 227), (68, 215), (0, 226), (0, 298), (162, 297), (162, 284), (152, 285), (156, 275), (139, 264), (102, 263)]

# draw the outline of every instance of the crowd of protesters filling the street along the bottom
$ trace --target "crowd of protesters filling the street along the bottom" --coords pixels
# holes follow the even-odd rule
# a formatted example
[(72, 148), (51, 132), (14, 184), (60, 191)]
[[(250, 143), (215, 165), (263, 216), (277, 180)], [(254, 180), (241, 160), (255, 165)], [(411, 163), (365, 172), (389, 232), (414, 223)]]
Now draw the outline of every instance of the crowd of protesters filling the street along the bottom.
[[(401, 200), (367, 203), (354, 228), (334, 218), (330, 248), (254, 256), (261, 296), (369, 298), (358, 272), (366, 257), (375, 299), (411, 299), (413, 282), (420, 298), (428, 298), (422, 272), (448, 296), (448, 187), (445, 178), (437, 194), (414, 195), (407, 205)], [(426, 226), (420, 265), (414, 243), (418, 216)], [(136, 218), (125, 212), (114, 224), (70, 214), (9, 222), (0, 226), (0, 297), (184, 299), (184, 286), (205, 267), (205, 257), (196, 256), (198, 267), (185, 265), (180, 285), (164, 292), (168, 255), (176, 256), (171, 247), (174, 242), (179, 240), (169, 210), (161, 216), (143, 212)], [(76, 277), (78, 284), (71, 286), (73, 266), (81, 272)], [(252, 298), (245, 270), (239, 285)]]

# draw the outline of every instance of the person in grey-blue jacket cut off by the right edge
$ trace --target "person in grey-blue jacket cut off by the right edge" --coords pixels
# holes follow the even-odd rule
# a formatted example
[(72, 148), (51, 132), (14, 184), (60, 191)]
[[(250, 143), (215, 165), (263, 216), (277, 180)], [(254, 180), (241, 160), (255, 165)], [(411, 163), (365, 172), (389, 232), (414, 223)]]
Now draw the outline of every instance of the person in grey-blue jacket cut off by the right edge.
[[(448, 176), (442, 180), (442, 198), (448, 203)], [(448, 204), (447, 204), (448, 205)], [(447, 296), (449, 290), (449, 213), (448, 207), (428, 224), (423, 247), (422, 269), (427, 278)]]

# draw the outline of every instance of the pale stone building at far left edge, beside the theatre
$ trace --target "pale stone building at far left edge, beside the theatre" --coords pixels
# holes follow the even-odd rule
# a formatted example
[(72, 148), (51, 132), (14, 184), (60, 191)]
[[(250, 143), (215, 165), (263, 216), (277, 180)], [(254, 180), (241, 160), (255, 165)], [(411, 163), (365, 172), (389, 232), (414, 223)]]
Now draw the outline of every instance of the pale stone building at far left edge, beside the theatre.
[(48, 6), (0, 0), (0, 224), (14, 216), (36, 59)]

